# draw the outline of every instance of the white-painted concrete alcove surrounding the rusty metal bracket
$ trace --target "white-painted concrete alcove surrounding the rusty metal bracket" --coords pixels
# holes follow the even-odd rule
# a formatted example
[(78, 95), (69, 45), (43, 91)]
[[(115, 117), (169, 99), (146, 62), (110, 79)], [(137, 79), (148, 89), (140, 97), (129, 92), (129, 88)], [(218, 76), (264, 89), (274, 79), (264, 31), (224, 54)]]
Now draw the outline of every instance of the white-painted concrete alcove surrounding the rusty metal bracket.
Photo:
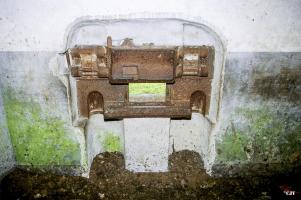
[[(111, 36), (113, 39), (108, 42), (107, 36)], [(210, 80), (209, 83), (211, 91), (209, 94), (205, 94), (204, 91), (196, 89), (195, 91), (191, 91), (191, 95), (187, 96), (190, 102), (190, 110), (192, 112), (199, 112), (193, 113), (191, 119), (188, 120), (170, 120), (165, 117), (154, 119), (149, 117), (145, 118), (145, 116), (143, 117), (143, 115), (141, 115), (141, 117), (143, 117), (141, 119), (122, 117), (125, 119), (106, 121), (104, 120), (104, 116), (102, 116), (101, 106), (103, 106), (103, 102), (101, 102), (101, 99), (104, 98), (104, 100), (106, 100), (110, 97), (108, 94), (104, 94), (101, 88), (108, 86), (93, 83), (93, 85), (95, 85), (95, 88), (94, 86), (93, 88), (98, 92), (92, 93), (92, 96), (89, 95), (91, 100), (89, 98), (88, 103), (89, 106), (91, 104), (93, 107), (91, 107), (92, 113), (100, 115), (90, 115), (90, 119), (88, 120), (88, 115), (81, 114), (86, 113), (85, 109), (88, 107), (84, 109), (80, 108), (81, 100), (77, 99), (78, 95), (81, 95), (79, 94), (81, 91), (84, 93), (87, 91), (84, 91), (85, 89), (76, 89), (79, 82), (76, 78), (70, 76), (68, 84), (70, 110), (72, 112), (73, 124), (75, 126), (85, 127), (86, 146), (89, 158), (88, 165), (90, 165), (91, 160), (96, 154), (103, 151), (110, 151), (110, 149), (105, 149), (104, 147), (104, 138), (106, 138), (107, 135), (114, 135), (118, 138), (119, 151), (124, 152), (126, 166), (130, 170), (166, 171), (167, 157), (172, 153), (172, 150), (179, 151), (184, 149), (198, 152), (204, 160), (205, 167), (210, 169), (210, 163), (215, 156), (214, 126), (218, 122), (221, 100), (222, 72), (225, 57), (225, 48), (222, 40), (209, 26), (183, 19), (136, 18), (103, 20), (83, 18), (78, 19), (70, 25), (66, 34), (65, 48), (67, 51), (74, 47), (81, 48), (83, 45), (120, 46), (122, 43), (125, 45), (124, 41), (127, 38), (131, 38), (130, 44), (134, 42), (135, 45), (143, 47), (185, 47), (202, 45), (213, 47), (214, 58), (212, 59), (212, 64), (214, 70), (212, 69), (212, 80)], [(95, 55), (98, 54), (99, 53)], [(189, 56), (193, 57), (191, 55)], [(185, 62), (193, 62), (193, 58), (190, 57), (187, 58), (190, 60)], [(102, 60), (101, 58), (95, 59), (99, 60), (98, 62)], [(202, 63), (205, 62), (205, 60), (199, 60), (197, 62)], [(74, 72), (72, 73), (74, 74)], [(211, 72), (209, 71), (209, 73)], [(200, 82), (200, 84), (203, 83)], [(86, 88), (88, 85), (89, 83), (82, 87)], [(114, 87), (117, 86), (112, 85), (111, 90), (113, 90)], [(167, 88), (170, 88), (170, 86)], [(187, 89), (188, 88), (184, 90)], [(170, 92), (166, 93), (167, 96), (170, 95), (169, 93)], [(182, 92), (171, 92), (172, 95), (180, 95), (180, 93)], [(124, 92), (121, 92), (121, 95), (124, 95)], [(114, 100), (122, 101), (122, 99), (126, 98), (128, 98), (128, 95), (116, 96)], [(106, 105), (104, 106), (106, 109)], [(90, 107), (88, 109), (90, 109)], [(91, 114), (91, 110), (89, 112)], [(154, 124), (158, 126), (153, 126)], [(118, 128), (116, 129), (116, 127)], [(153, 139), (147, 139), (150, 136)], [(138, 138), (140, 138), (140, 140)], [(137, 142), (137, 140), (139, 140), (139, 142)], [(173, 146), (173, 149), (171, 149), (171, 146)], [(139, 152), (138, 149), (147, 150)], [(140, 160), (137, 160), (138, 157), (140, 157)], [(146, 161), (148, 163), (146, 163)]]

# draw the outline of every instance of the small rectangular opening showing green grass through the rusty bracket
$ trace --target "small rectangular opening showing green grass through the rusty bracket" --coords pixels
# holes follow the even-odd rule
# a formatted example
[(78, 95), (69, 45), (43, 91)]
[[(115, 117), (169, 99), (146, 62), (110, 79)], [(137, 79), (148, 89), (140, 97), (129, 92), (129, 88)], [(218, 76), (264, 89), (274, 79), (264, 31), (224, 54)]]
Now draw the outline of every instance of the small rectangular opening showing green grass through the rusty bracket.
[(130, 102), (165, 102), (166, 83), (129, 83)]

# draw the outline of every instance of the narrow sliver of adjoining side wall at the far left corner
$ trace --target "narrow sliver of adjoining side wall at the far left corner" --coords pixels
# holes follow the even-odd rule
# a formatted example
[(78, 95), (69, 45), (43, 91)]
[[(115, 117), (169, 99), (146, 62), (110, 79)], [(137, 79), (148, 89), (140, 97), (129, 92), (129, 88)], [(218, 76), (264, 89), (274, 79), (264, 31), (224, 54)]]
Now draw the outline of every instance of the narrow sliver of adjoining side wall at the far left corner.
[(3, 98), (0, 87), (0, 180), (2, 175), (15, 165), (15, 157), (11, 139), (8, 133)]

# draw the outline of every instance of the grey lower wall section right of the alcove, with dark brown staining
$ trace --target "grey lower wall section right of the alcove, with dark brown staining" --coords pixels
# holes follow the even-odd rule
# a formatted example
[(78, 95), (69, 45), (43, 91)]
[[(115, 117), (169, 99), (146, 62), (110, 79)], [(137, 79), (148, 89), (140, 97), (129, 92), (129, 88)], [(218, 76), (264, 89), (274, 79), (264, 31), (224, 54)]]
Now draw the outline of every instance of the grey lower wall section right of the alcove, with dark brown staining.
[(301, 53), (230, 53), (223, 94), (218, 165), (301, 162)]

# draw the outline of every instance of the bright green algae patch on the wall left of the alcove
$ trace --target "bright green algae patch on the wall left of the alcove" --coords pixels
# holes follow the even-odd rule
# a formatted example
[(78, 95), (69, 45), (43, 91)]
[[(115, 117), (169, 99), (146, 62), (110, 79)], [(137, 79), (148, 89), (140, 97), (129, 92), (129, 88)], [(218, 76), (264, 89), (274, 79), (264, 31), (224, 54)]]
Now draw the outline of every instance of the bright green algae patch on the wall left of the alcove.
[(64, 122), (43, 113), (40, 105), (23, 101), (15, 91), (4, 93), (4, 108), (19, 165), (79, 165), (79, 144), (66, 135)]

